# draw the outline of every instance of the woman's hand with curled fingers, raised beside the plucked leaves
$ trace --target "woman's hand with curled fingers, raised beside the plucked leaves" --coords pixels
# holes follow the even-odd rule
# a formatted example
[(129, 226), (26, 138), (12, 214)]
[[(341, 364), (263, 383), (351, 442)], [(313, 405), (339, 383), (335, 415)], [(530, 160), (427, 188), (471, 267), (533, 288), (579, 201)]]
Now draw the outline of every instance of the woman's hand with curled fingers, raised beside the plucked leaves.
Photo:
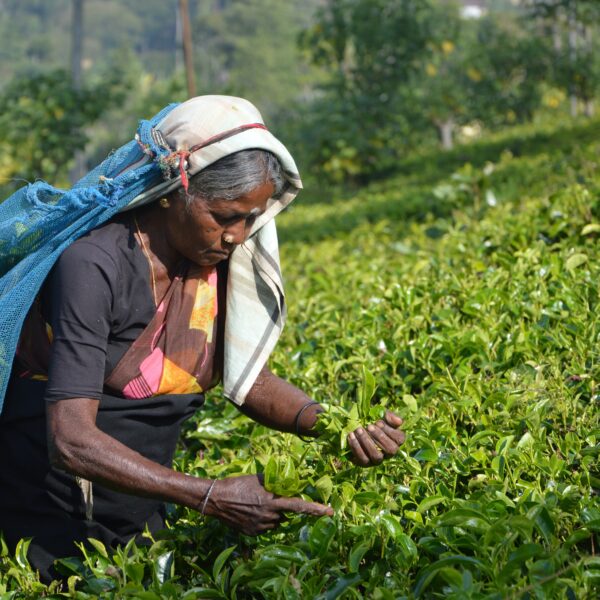
[(370, 467), (380, 464), (386, 457), (394, 456), (406, 437), (399, 429), (401, 425), (402, 419), (388, 410), (383, 419), (350, 432), (348, 445), (352, 450), (353, 462)]

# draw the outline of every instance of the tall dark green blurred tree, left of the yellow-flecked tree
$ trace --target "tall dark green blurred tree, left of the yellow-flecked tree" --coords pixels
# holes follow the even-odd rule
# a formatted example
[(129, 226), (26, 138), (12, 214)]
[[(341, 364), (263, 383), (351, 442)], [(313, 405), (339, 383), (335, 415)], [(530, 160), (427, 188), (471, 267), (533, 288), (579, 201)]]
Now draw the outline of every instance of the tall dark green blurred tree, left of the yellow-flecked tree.
[(425, 48), (429, 11), (429, 1), (332, 0), (301, 36), (329, 73), (302, 137), (325, 177), (360, 180), (397, 159), (407, 131), (399, 89)]

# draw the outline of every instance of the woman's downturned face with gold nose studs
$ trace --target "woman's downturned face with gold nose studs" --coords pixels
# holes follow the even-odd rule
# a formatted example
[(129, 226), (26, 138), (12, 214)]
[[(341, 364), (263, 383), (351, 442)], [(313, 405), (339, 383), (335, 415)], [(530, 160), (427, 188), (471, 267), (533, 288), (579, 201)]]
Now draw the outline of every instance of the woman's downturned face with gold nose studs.
[(250, 235), (273, 191), (268, 182), (235, 200), (207, 201), (196, 196), (189, 207), (183, 194), (173, 194), (171, 206), (164, 211), (167, 241), (197, 265), (215, 265)]

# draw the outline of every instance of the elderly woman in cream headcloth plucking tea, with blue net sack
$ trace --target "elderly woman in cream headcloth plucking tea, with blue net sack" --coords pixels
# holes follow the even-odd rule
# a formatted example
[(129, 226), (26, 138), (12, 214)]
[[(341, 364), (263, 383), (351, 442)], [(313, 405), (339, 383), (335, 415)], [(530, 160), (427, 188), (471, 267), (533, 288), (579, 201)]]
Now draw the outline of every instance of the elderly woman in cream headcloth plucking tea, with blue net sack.
[[(171, 468), (182, 422), (219, 381), (255, 421), (315, 435), (319, 404), (266, 366), (284, 316), (273, 217), (300, 187), (250, 103), (206, 96), (142, 122), (73, 190), (38, 183), (0, 207), (0, 308), (20, 331), (18, 347), (0, 340), (15, 354), (0, 355), (0, 530), (11, 545), (33, 537), (46, 580), (76, 541), (160, 529), (165, 502), (246, 534), (284, 512), (332, 514), (274, 496), (260, 476)], [(395, 454), (400, 424), (387, 413), (351, 433), (355, 461)]]

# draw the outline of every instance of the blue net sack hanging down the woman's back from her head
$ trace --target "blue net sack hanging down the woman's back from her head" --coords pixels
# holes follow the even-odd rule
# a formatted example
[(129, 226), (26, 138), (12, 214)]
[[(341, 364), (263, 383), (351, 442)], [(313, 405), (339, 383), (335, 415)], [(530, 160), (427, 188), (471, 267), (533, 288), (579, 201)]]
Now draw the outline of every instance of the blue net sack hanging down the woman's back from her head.
[(38, 181), (0, 204), (0, 412), (23, 321), (50, 269), (76, 239), (164, 181), (170, 152), (152, 136), (177, 104), (141, 121), (121, 146), (70, 190)]

